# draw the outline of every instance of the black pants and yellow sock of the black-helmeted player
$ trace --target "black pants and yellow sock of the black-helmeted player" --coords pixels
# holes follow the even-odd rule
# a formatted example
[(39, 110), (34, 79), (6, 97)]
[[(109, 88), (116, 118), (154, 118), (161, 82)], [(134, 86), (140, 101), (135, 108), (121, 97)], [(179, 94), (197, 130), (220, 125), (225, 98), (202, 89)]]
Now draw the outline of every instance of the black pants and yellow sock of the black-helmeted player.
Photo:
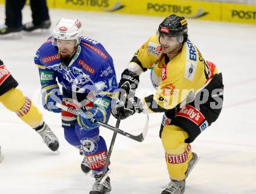
[[(197, 109), (193, 101), (182, 108), (170, 109), (163, 115), (160, 137), (172, 180), (186, 178), (185, 173), (192, 157), (190, 142), (193, 142), (202, 131), (218, 119), (222, 110), (223, 88), (222, 74), (216, 74), (205, 89), (209, 93), (215, 89), (221, 90), (217, 94), (209, 96), (206, 103), (201, 104)], [(198, 93), (198, 98), (200, 96), (201, 94)]]

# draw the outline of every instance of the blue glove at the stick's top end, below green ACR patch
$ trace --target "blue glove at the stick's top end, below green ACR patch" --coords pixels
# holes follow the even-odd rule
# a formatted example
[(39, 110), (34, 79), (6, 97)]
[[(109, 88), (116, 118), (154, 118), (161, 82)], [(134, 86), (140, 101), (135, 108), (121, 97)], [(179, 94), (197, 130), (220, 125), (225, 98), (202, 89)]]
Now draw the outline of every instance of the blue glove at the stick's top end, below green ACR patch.
[(56, 103), (62, 103), (62, 94), (59, 90), (59, 86), (55, 85), (45, 85), (42, 86), (42, 105), (47, 111), (59, 113), (62, 112), (61, 108), (56, 107)]

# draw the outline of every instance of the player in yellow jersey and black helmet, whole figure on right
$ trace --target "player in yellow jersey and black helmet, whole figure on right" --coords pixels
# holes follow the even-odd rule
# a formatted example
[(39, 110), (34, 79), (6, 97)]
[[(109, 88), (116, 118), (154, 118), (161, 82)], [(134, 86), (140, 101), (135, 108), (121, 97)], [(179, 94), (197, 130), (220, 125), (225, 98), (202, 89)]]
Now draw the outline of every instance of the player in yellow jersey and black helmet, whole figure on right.
[[(205, 61), (188, 39), (187, 20), (172, 14), (159, 25), (157, 34), (134, 53), (119, 82), (128, 94), (112, 114), (122, 119), (135, 112), (164, 112), (159, 136), (165, 149), (170, 182), (161, 194), (181, 194), (185, 180), (198, 160), (190, 143), (214, 122), (222, 109), (222, 74)], [(141, 73), (151, 69), (155, 94), (142, 100), (136, 90)]]

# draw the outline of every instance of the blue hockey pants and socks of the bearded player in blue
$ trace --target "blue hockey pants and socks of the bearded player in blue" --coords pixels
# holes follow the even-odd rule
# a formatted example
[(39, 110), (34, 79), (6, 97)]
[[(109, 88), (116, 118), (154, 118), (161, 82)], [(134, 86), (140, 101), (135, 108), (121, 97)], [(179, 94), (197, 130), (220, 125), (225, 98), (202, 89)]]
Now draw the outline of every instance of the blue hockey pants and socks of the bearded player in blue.
[[(79, 108), (80, 104), (78, 101), (86, 98), (86, 96), (82, 97), (77, 94), (78, 101), (76, 101), (71, 98), (72, 93), (70, 91), (63, 89), (62, 92), (62, 104), (65, 104), (67, 107)], [(66, 111), (62, 111), (62, 127), (65, 139), (69, 144), (76, 148), (83, 147), (86, 162), (90, 169), (93, 170), (93, 174), (103, 171), (108, 150), (104, 138), (99, 136), (99, 127), (95, 129), (81, 128), (77, 122), (77, 116)]]

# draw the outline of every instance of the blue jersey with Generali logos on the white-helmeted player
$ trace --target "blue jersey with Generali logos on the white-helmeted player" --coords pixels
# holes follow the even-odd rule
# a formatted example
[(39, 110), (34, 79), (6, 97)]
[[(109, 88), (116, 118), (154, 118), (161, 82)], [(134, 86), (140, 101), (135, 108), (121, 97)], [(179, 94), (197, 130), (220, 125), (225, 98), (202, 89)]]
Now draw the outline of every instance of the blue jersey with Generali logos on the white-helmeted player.
[(112, 57), (101, 43), (82, 37), (67, 66), (62, 63), (58, 48), (51, 41), (52, 38), (48, 38), (34, 57), (42, 86), (56, 85), (58, 79), (62, 87), (77, 93), (112, 92), (118, 87)]

